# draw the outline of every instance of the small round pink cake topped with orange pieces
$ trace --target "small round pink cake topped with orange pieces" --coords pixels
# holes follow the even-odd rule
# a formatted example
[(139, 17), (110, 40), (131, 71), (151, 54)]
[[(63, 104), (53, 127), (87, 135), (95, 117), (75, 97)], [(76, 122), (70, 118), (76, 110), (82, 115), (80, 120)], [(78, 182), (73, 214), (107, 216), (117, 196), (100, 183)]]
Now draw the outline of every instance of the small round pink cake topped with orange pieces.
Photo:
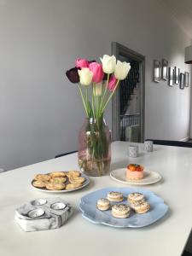
[(127, 179), (143, 179), (143, 166), (130, 164), (126, 167), (126, 178)]

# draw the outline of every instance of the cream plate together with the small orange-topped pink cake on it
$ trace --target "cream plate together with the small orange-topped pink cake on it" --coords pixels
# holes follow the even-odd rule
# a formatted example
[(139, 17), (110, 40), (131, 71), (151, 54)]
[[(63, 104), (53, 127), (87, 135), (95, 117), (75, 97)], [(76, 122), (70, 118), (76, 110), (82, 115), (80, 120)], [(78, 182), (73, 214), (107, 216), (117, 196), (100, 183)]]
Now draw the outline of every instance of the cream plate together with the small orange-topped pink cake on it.
[(160, 173), (146, 170), (144, 166), (129, 164), (126, 168), (120, 168), (110, 172), (110, 177), (119, 183), (132, 185), (148, 185), (158, 183), (162, 178)]

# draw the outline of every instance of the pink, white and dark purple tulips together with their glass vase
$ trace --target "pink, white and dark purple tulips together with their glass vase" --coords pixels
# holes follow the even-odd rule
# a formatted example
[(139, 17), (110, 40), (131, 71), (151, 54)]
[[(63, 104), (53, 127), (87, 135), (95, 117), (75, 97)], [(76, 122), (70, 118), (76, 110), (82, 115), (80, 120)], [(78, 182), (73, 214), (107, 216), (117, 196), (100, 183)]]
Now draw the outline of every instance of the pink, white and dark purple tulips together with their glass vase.
[(79, 166), (92, 176), (102, 175), (110, 167), (110, 134), (103, 113), (131, 68), (130, 63), (116, 61), (114, 55), (103, 55), (101, 62), (78, 59), (76, 67), (66, 73), (72, 83), (79, 84), (87, 117), (84, 134), (79, 133)]

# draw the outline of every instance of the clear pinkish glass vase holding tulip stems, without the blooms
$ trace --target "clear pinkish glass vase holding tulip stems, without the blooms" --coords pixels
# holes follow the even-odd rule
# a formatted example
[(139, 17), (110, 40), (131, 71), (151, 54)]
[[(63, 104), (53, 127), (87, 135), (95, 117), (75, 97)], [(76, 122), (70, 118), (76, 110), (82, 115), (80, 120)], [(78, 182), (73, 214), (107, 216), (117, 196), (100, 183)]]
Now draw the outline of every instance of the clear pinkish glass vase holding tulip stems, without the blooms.
[(79, 167), (89, 176), (102, 176), (110, 170), (111, 131), (103, 117), (85, 119), (79, 131)]

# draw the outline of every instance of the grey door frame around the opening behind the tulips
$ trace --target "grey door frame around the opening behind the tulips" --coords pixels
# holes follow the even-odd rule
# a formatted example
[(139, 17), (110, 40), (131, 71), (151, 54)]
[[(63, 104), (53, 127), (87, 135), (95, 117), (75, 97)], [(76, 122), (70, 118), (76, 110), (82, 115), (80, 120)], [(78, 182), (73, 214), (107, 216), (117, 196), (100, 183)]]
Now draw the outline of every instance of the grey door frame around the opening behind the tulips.
[[(125, 55), (133, 61), (139, 62), (139, 75), (141, 83), (141, 143), (144, 142), (144, 118), (145, 118), (145, 56), (125, 47), (122, 44), (113, 42), (111, 44), (112, 55), (119, 60), (119, 55)], [(112, 139), (120, 140), (120, 94), (119, 89), (112, 99)]]

